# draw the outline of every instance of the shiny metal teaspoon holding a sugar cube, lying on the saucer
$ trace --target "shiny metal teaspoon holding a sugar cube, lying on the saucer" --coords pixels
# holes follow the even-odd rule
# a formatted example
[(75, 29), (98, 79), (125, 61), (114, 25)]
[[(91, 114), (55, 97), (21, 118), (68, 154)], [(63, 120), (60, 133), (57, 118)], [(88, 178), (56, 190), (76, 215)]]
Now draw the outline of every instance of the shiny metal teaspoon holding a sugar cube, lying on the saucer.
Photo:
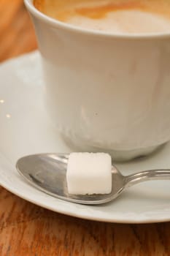
[(127, 187), (142, 181), (170, 179), (170, 170), (146, 170), (123, 176), (112, 166), (112, 192), (109, 195), (69, 195), (66, 186), (68, 154), (36, 154), (17, 162), (21, 176), (48, 195), (72, 203), (96, 205), (114, 200)]

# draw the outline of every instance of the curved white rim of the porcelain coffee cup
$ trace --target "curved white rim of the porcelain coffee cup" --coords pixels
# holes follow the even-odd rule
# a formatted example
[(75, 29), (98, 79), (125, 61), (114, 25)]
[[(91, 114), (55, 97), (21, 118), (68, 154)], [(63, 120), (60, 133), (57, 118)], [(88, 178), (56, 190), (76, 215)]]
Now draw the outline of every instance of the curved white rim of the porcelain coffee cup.
[(55, 18), (51, 18), (44, 13), (34, 7), (33, 0), (24, 0), (27, 9), (34, 15), (36, 18), (44, 21), (45, 23), (53, 26), (54, 28), (64, 29), (66, 31), (72, 31), (77, 34), (84, 34), (88, 36), (98, 36), (98, 37), (106, 37), (112, 39), (161, 39), (170, 37), (169, 33), (111, 33), (105, 31), (97, 31), (93, 29), (84, 29), (79, 26), (74, 26), (69, 23), (64, 23), (60, 20), (56, 20)]

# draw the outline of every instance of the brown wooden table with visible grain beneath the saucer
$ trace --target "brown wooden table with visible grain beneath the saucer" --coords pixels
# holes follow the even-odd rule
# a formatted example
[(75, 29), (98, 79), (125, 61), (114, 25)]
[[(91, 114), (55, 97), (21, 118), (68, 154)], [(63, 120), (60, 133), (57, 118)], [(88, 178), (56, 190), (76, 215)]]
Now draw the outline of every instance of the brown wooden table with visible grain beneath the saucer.
[[(22, 0), (0, 0), (0, 61), (36, 48)], [(170, 224), (117, 225), (66, 217), (0, 187), (0, 256), (169, 256)]]

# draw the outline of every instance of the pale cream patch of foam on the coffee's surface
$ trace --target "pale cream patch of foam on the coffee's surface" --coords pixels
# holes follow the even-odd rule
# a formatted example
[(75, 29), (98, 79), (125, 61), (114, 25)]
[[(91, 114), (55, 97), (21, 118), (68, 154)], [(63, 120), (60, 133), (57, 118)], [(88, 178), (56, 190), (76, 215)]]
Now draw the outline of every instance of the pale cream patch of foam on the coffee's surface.
[(74, 26), (81, 26), (84, 29), (112, 33), (158, 33), (170, 31), (170, 20), (168, 18), (140, 10), (110, 12), (106, 17), (98, 20), (77, 15), (68, 18), (66, 22)]

